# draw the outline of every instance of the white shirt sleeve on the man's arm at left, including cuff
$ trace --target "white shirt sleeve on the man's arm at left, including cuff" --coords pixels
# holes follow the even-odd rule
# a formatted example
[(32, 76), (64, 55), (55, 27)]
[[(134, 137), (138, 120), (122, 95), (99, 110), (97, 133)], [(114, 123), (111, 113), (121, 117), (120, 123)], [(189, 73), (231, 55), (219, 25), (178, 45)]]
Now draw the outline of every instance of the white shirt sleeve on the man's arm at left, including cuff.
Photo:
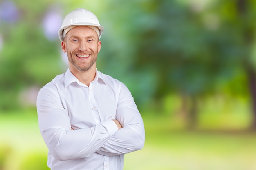
[(90, 156), (118, 130), (112, 120), (87, 129), (71, 130), (68, 113), (52, 88), (39, 91), (37, 112), (39, 129), (49, 152), (61, 161)]

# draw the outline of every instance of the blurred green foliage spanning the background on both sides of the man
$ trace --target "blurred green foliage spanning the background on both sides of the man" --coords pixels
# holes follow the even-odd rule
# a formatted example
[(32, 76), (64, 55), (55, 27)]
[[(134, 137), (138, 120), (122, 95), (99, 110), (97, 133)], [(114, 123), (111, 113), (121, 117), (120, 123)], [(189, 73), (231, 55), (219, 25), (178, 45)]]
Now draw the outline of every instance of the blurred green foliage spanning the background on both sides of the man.
[[(1, 110), (20, 107), (21, 91), (40, 88), (67, 69), (58, 38), (46, 38), (42, 21), (50, 9), (64, 17), (78, 7), (93, 11), (105, 28), (97, 68), (124, 82), (139, 108), (162, 113), (172, 94), (194, 103), (219, 93), (250, 99), (246, 68), (256, 66), (252, 0), (13, 2), (18, 20), (0, 21)], [(180, 110), (186, 105), (170, 102)], [(186, 112), (198, 113), (196, 108)]]

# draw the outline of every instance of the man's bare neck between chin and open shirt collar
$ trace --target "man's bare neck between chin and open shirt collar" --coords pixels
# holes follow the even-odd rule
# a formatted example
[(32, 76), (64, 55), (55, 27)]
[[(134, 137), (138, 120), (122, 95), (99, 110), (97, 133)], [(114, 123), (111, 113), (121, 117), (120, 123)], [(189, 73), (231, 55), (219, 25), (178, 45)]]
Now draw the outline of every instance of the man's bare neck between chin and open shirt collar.
[(96, 76), (96, 67), (91, 67), (88, 71), (84, 72), (71, 68), (70, 71), (79, 80), (79, 82), (85, 84), (88, 87), (90, 82), (92, 82)]

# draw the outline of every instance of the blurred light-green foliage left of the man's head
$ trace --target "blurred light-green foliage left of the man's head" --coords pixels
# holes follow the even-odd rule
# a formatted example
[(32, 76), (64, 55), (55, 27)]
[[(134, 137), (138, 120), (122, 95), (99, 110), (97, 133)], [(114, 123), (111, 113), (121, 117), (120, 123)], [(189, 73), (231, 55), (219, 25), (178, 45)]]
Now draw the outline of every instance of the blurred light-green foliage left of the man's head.
[[(21, 12), (23, 2), (17, 5)], [(29, 2), (18, 22), (0, 26), (4, 42), (0, 51), (0, 110), (18, 108), (20, 91), (34, 84), (41, 87), (61, 73), (58, 46), (47, 40), (41, 29), (40, 18), (45, 13), (41, 7), (46, 5), (45, 1)], [(40, 10), (33, 11), (36, 7)]]

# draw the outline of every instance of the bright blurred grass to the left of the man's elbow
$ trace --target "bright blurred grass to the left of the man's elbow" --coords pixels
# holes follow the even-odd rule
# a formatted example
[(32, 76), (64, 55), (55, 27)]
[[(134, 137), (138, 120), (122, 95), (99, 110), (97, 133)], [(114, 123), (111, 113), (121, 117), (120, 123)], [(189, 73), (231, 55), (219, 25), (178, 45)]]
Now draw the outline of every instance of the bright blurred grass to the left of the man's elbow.
[[(28, 161), (33, 163), (38, 155), (45, 155), (42, 159), (45, 167), (47, 161), (47, 147), (40, 135), (37, 124), (36, 110), (22, 110), (15, 113), (0, 114), (0, 149), (4, 153), (3, 170), (29, 170), (24, 167)], [(0, 150), (0, 153), (1, 151)], [(1, 161), (1, 160), (0, 160)], [(15, 162), (15, 163), (14, 163)], [(36, 166), (35, 166), (36, 167)], [(36, 168), (36, 170), (40, 170)], [(47, 170), (44, 168), (44, 170)], [(48, 169), (49, 170), (49, 169)]]

